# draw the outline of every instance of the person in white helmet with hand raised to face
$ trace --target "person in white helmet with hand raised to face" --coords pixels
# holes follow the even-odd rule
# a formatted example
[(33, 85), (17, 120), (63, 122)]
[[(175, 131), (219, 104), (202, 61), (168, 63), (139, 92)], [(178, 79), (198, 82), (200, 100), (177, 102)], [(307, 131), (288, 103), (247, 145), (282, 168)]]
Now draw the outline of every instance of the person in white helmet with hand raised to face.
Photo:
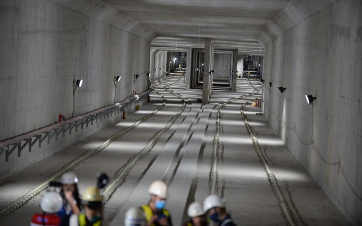
[(78, 192), (78, 178), (73, 172), (65, 172), (61, 176), (60, 195), (63, 199), (63, 207), (58, 216), (71, 216), (72, 214), (80, 214), (82, 209), (82, 200)]

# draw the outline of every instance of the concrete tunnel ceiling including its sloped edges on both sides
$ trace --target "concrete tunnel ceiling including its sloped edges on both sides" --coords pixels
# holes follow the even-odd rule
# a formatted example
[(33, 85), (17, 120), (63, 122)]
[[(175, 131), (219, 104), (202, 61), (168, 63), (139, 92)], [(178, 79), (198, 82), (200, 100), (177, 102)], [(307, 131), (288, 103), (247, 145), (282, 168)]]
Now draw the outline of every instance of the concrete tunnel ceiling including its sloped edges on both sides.
[(263, 54), (264, 44), (337, 0), (51, 0), (148, 39), (151, 48)]

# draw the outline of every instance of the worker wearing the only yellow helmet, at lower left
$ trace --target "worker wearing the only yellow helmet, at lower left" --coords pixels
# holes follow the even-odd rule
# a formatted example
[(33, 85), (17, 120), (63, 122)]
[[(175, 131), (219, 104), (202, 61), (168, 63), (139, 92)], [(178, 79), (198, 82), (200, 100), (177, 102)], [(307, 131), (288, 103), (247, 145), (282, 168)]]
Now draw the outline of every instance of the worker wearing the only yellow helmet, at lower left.
[(96, 186), (88, 187), (83, 195), (84, 214), (62, 218), (60, 226), (101, 226), (103, 217), (102, 196)]

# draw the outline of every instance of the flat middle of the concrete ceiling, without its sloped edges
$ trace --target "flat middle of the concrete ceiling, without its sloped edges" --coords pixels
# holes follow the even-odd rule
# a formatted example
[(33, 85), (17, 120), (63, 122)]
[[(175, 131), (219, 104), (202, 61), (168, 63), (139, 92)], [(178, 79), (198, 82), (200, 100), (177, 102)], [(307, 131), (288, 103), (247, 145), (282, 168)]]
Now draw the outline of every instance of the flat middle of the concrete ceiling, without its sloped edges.
[(290, 0), (103, 0), (157, 34), (158, 48), (217, 48), (259, 53), (261, 30)]

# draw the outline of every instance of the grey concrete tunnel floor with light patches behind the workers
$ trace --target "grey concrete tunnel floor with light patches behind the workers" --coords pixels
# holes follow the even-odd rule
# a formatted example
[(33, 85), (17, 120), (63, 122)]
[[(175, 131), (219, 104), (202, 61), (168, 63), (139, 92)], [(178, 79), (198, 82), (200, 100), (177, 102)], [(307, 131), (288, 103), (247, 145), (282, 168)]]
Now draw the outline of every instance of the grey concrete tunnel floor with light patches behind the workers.
[[(256, 114), (262, 109), (248, 103), (243, 112), (251, 134), (258, 142), (258, 146), (254, 145), (241, 116), (241, 105), (260, 96), (260, 82), (238, 79), (237, 92), (213, 91), (210, 104), (201, 105), (197, 99), (201, 98), (202, 91), (185, 90), (183, 79), (178, 79), (171, 77), (155, 87), (166, 97), (165, 107), (72, 170), (79, 177), (81, 193), (95, 184), (97, 172), (105, 171), (113, 177), (125, 178), (105, 205), (105, 225), (122, 225), (129, 207), (147, 203), (148, 186), (156, 179), (169, 184), (167, 208), (174, 225), (187, 220), (189, 203), (202, 202), (210, 192), (226, 198), (227, 211), (237, 225), (288, 225), (288, 217), (292, 225), (349, 225), (268, 126), (265, 117)], [(173, 85), (169, 90), (163, 89), (167, 84)], [(185, 103), (168, 91), (180, 94)], [(254, 94), (248, 96), (251, 93)], [(235, 99), (242, 95), (247, 97)], [(226, 103), (229, 100), (232, 101)], [(1, 180), (0, 213), (64, 165), (97, 148), (162, 103), (160, 95), (152, 92), (151, 102), (140, 111), (127, 114), (126, 119)], [(179, 116), (174, 117), (178, 113)], [(220, 129), (217, 127), (218, 115)], [(214, 138), (217, 137), (219, 139), (215, 140), (219, 143), (215, 147)], [(151, 148), (147, 149), (148, 146)], [(141, 150), (144, 154), (137, 164), (129, 172), (124, 170), (129, 160)], [(212, 173), (213, 164), (217, 166), (215, 173)], [(267, 169), (270, 170), (269, 177)], [(279, 198), (273, 184), (280, 191)], [(41, 192), (23, 207), (1, 218), (0, 225), (28, 225), (31, 216), (40, 211), (43, 194)], [(282, 205), (287, 207), (288, 217), (283, 215)]]

